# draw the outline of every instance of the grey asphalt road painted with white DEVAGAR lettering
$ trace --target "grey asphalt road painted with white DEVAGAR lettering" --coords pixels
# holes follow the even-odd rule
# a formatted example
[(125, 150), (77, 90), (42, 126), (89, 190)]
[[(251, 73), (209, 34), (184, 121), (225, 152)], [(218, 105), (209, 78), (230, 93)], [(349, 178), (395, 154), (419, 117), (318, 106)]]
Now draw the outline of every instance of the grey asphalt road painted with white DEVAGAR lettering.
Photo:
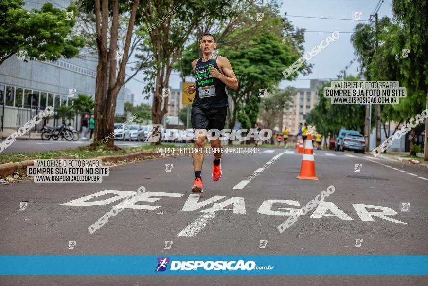
[[(302, 155), (295, 150), (260, 149), (258, 154), (223, 156), (223, 175), (211, 179), (212, 154), (202, 169), (204, 194), (190, 194), (194, 174), (189, 156), (111, 167), (98, 184), (34, 183), (0, 185), (1, 255), (428, 255), (428, 172), (414, 165), (368, 155), (315, 151), (318, 181), (298, 180)], [(277, 160), (265, 164), (277, 156)], [(165, 164), (173, 164), (165, 172)], [(355, 164), (362, 164), (360, 172)], [(263, 172), (259, 168), (266, 166)], [(258, 170), (253, 179), (249, 177)], [(250, 181), (244, 182), (242, 181)], [(245, 185), (245, 186), (244, 186)], [(285, 232), (277, 226), (291, 200), (300, 206), (333, 185), (324, 203)], [(90, 234), (88, 227), (122, 200), (111, 190), (144, 186), (146, 198)], [(242, 187), (240, 189), (240, 187)], [(106, 191), (100, 197), (97, 192)], [(161, 193), (176, 197), (160, 196)], [(110, 194), (108, 194), (110, 193)], [(120, 193), (120, 192), (117, 192)], [(165, 195), (165, 194), (163, 194)], [(166, 194), (168, 195), (168, 194)], [(126, 196), (126, 195), (125, 195)], [(214, 196), (217, 196), (213, 198)], [(206, 201), (209, 200), (210, 201)], [(77, 200), (77, 201), (76, 201)], [(19, 203), (27, 201), (25, 211)], [(74, 202), (73, 202), (74, 201)], [(196, 204), (207, 202), (207, 204)], [(214, 203), (220, 210), (213, 210)], [(223, 202), (230, 202), (226, 205)], [(264, 203), (265, 202), (265, 203)], [(330, 202), (330, 203), (327, 203)], [(401, 212), (400, 203), (410, 202)], [(323, 206), (327, 206), (324, 204)], [(354, 205), (353, 205), (354, 204)], [(361, 205), (371, 205), (366, 209)], [(149, 210), (147, 206), (159, 206)], [(367, 211), (390, 208), (377, 217)], [(223, 210), (226, 209), (226, 210)], [(204, 211), (208, 210), (208, 211)], [(367, 211), (364, 211), (367, 210)], [(389, 209), (388, 209), (389, 210)], [(162, 212), (163, 214), (157, 214)], [(336, 215), (336, 216), (332, 216)], [(356, 239), (363, 239), (355, 247)], [(260, 240), (267, 240), (266, 248)], [(76, 247), (68, 250), (68, 241)], [(165, 241), (173, 241), (170, 249)], [(425, 281), (425, 282), (424, 282)], [(1, 276), (0, 285), (427, 285), (426, 276)]]

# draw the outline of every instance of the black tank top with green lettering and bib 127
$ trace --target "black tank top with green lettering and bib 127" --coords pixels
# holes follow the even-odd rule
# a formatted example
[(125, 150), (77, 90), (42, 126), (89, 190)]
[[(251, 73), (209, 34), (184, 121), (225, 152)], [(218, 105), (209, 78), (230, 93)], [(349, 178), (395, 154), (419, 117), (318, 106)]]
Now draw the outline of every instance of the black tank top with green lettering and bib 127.
[(196, 67), (196, 95), (192, 105), (198, 105), (204, 109), (229, 106), (226, 84), (218, 78), (210, 75), (210, 68), (214, 66), (218, 70), (217, 55), (207, 61), (199, 58)]

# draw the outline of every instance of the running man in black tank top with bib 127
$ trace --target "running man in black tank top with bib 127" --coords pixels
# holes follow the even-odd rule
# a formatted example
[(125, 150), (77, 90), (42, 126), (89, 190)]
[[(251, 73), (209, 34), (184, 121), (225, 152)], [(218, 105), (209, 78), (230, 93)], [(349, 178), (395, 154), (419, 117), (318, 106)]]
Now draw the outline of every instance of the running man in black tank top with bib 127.
[[(199, 47), (202, 50), (202, 57), (192, 62), (196, 82), (194, 85), (189, 85), (187, 91), (191, 94), (196, 90), (191, 120), (195, 130), (195, 147), (203, 148), (206, 137), (199, 135), (197, 130), (218, 129), (221, 131), (224, 128), (227, 107), (229, 106), (226, 86), (237, 89), (238, 80), (229, 60), (226, 57), (213, 54), (213, 50), (217, 48), (213, 35), (203, 35)], [(211, 139), (210, 143), (212, 148), (217, 148), (215, 149), (217, 151), (214, 152), (212, 177), (214, 181), (218, 181), (221, 178), (220, 139)], [(204, 153), (193, 153), (192, 159), (195, 171), (195, 184), (192, 192), (203, 193), (201, 170)]]

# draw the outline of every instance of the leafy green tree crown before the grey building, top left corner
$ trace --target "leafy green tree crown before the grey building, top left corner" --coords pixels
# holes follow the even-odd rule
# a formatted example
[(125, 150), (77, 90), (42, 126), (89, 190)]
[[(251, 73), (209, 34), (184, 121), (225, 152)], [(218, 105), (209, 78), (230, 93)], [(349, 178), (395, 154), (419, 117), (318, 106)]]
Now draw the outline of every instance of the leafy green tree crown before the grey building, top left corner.
[(40, 10), (31, 11), (23, 5), (22, 0), (0, 1), (0, 65), (18, 50), (27, 51), (25, 61), (71, 58), (79, 53), (84, 40), (72, 35), (74, 17), (66, 20), (66, 12), (76, 15), (76, 5), (61, 10), (46, 2)]

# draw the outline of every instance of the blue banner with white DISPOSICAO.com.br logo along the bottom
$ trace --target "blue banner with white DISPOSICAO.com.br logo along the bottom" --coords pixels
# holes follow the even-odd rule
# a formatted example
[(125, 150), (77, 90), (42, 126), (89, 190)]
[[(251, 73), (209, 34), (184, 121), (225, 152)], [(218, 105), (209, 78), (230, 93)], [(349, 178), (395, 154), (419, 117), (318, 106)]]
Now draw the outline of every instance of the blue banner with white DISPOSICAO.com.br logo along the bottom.
[(4, 255), (0, 275), (428, 275), (428, 256)]

